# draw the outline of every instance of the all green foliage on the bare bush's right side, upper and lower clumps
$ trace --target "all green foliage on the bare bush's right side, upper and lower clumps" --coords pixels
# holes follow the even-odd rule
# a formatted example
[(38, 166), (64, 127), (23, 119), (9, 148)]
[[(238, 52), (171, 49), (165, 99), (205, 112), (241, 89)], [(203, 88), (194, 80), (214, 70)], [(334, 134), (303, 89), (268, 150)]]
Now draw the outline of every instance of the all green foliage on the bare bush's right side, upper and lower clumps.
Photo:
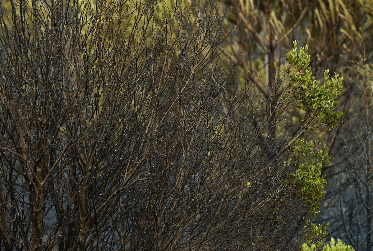
[[(343, 117), (343, 112), (334, 111), (338, 101), (334, 100), (343, 93), (343, 78), (335, 74), (334, 78), (329, 80), (329, 70), (325, 70), (323, 84), (315, 80), (311, 68), (307, 66), (310, 63), (310, 55), (307, 53), (308, 46), (300, 47), (299, 53), (297, 41), (294, 41), (294, 49), (286, 53), (289, 74), (289, 93), (284, 97), (292, 97), (297, 103), (297, 108), (304, 112), (301, 123), (301, 132), (312, 133), (313, 129), (320, 127), (331, 131), (336, 127), (338, 120)], [(298, 134), (300, 135), (300, 134)], [(294, 171), (288, 175), (290, 186), (294, 185), (300, 189), (298, 199), (303, 202), (303, 219), (305, 219), (305, 233), (308, 236), (305, 247), (313, 247), (316, 250), (324, 244), (325, 237), (328, 234), (329, 223), (324, 226), (312, 223), (319, 212), (320, 199), (325, 195), (326, 180), (325, 175), (321, 173), (322, 167), (327, 165), (331, 157), (327, 153), (328, 147), (317, 149), (320, 140), (308, 142), (304, 138), (293, 139), (289, 152), (291, 157), (286, 165), (294, 165)]]

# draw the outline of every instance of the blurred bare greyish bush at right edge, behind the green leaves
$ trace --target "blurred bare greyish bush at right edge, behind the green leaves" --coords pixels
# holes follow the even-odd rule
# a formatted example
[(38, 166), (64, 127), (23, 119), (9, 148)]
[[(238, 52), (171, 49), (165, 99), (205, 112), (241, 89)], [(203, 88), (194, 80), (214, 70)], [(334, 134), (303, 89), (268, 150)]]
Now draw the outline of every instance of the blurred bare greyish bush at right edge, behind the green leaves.
[[(371, 116), (369, 116), (371, 117)], [(338, 232), (355, 250), (372, 250), (373, 239), (373, 176), (372, 122), (358, 116), (340, 139), (340, 162), (333, 165), (333, 186), (323, 199), (332, 222), (330, 231)], [(346, 136), (343, 137), (343, 135)]]

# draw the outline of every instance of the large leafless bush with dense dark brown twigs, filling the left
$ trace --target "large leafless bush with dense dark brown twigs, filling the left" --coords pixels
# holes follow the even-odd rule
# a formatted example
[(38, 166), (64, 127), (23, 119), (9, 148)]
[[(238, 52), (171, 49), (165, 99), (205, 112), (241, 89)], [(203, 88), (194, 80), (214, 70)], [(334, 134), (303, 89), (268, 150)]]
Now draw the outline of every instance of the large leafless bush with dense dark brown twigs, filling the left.
[(11, 1), (1, 22), (4, 250), (295, 250), (308, 238), (312, 212), (287, 175), (297, 163), (283, 164), (307, 129), (286, 139), (297, 100), (286, 76), (268, 97), (253, 79), (232, 84), (212, 4)]

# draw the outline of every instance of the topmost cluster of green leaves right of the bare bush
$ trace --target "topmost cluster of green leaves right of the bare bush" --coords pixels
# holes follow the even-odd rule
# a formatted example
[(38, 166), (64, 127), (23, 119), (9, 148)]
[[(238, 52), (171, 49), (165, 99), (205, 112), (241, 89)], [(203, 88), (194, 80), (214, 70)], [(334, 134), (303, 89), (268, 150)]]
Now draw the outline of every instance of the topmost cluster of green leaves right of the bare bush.
[[(308, 46), (300, 48), (297, 52), (297, 41), (294, 41), (294, 49), (286, 53), (286, 61), (289, 63), (287, 69), (290, 75), (289, 88), (295, 100), (297, 108), (303, 107), (308, 112), (301, 118), (300, 122), (305, 130), (312, 133), (314, 124), (325, 125), (327, 131), (335, 129), (337, 121), (343, 117), (343, 112), (334, 112), (338, 101), (335, 98), (343, 93), (343, 77), (335, 74), (329, 80), (329, 69), (325, 70), (323, 84), (311, 71), (311, 67), (305, 69), (310, 63), (310, 55), (307, 54)], [(303, 72), (303, 70), (305, 71)], [(318, 127), (317, 127), (318, 128)]]

